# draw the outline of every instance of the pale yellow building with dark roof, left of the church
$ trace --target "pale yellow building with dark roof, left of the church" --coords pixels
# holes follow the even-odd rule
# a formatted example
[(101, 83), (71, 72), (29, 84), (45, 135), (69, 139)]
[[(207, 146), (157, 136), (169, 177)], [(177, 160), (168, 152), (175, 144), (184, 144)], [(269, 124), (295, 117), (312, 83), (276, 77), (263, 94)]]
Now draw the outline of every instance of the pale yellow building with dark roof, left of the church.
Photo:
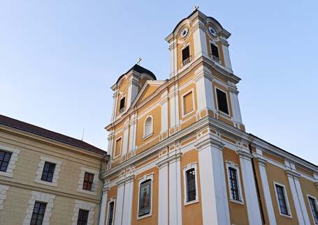
[(106, 152), (0, 115), (0, 224), (98, 224)]

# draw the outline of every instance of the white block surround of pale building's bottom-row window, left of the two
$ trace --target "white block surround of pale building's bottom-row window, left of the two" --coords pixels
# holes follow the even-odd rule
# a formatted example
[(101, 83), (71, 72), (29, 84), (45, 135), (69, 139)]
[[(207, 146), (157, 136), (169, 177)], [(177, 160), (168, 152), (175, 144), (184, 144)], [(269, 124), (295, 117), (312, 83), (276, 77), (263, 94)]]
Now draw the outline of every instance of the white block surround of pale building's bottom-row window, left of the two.
[(52, 217), (52, 208), (54, 207), (54, 199), (55, 199), (54, 194), (46, 194), (43, 192), (31, 191), (31, 198), (29, 200), (29, 208), (27, 208), (27, 212), (25, 213), (23, 225), (30, 224), (36, 201), (46, 203), (45, 213), (43, 217), (43, 224), (49, 225), (50, 217)]

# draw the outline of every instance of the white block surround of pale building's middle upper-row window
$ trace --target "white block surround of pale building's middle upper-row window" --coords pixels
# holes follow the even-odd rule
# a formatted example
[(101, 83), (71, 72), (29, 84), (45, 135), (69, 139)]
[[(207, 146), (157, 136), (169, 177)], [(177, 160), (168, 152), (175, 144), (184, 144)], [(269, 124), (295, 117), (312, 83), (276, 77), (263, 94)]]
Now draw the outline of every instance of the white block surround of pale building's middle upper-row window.
[[(45, 162), (51, 162), (55, 164), (52, 182), (41, 180)], [(62, 165), (62, 161), (60, 160), (54, 160), (50, 157), (41, 156), (40, 162), (38, 163), (38, 170), (36, 171), (36, 178), (34, 179), (34, 182), (40, 183), (43, 185), (50, 185), (50, 186), (57, 187), (57, 180), (59, 180), (59, 172), (61, 171), (61, 165)]]

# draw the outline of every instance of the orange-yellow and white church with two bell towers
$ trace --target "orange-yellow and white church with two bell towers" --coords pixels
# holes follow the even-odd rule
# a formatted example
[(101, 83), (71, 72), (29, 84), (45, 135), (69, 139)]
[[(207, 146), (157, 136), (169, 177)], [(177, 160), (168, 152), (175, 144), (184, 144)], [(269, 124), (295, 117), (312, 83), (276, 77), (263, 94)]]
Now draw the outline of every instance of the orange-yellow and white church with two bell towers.
[(199, 10), (166, 38), (166, 80), (112, 86), (101, 225), (318, 224), (318, 167), (245, 132), (231, 34)]

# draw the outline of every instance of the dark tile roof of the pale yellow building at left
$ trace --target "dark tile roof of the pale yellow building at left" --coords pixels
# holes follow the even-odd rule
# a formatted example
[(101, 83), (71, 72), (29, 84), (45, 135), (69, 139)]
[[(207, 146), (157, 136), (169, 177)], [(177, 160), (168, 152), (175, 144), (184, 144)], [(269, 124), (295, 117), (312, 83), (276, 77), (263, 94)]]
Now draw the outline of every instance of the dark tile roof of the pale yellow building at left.
[(48, 139), (52, 139), (54, 141), (66, 143), (70, 146), (75, 146), (77, 148), (89, 150), (91, 152), (99, 153), (101, 155), (107, 155), (106, 151), (101, 150), (100, 148), (97, 148), (95, 146), (92, 146), (89, 143), (86, 143), (85, 141), (81, 141), (81, 140), (75, 139), (73, 137), (68, 137), (64, 134), (59, 134), (57, 132), (46, 130), (46, 129), (44, 129), (42, 127), (38, 127), (36, 125), (31, 125), (29, 123), (18, 121), (16, 119), (10, 118), (8, 116), (0, 115), (0, 125), (12, 127), (12, 128), (17, 129), (17, 130), (29, 132), (31, 134), (36, 134), (36, 135), (41, 136), (41, 137), (45, 137)]

